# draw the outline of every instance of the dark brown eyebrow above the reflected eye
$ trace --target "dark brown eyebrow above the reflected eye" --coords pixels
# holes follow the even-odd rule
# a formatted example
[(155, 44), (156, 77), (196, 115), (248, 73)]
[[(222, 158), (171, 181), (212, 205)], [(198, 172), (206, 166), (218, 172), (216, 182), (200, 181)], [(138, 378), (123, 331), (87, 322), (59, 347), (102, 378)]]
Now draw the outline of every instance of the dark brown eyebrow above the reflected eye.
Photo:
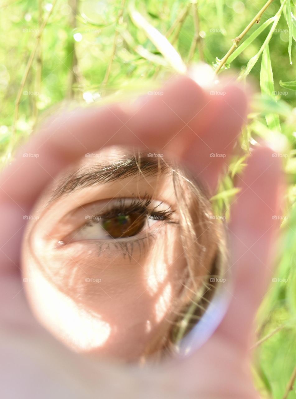
[(168, 170), (169, 165), (162, 158), (149, 157), (147, 155), (142, 156), (141, 154), (126, 156), (108, 165), (82, 166), (78, 170), (63, 176), (63, 180), (54, 190), (50, 202), (78, 188), (114, 182), (115, 180), (139, 174), (155, 176), (157, 173), (167, 172)]

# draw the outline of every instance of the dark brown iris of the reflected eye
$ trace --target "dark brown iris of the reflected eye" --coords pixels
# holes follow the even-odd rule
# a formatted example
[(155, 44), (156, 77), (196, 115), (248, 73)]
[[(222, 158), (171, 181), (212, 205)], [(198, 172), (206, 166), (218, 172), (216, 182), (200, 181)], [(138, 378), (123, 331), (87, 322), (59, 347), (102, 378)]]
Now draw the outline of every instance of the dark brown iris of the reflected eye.
[(110, 219), (103, 219), (102, 224), (107, 233), (113, 238), (131, 237), (141, 231), (147, 215), (135, 212), (129, 215), (117, 215)]

